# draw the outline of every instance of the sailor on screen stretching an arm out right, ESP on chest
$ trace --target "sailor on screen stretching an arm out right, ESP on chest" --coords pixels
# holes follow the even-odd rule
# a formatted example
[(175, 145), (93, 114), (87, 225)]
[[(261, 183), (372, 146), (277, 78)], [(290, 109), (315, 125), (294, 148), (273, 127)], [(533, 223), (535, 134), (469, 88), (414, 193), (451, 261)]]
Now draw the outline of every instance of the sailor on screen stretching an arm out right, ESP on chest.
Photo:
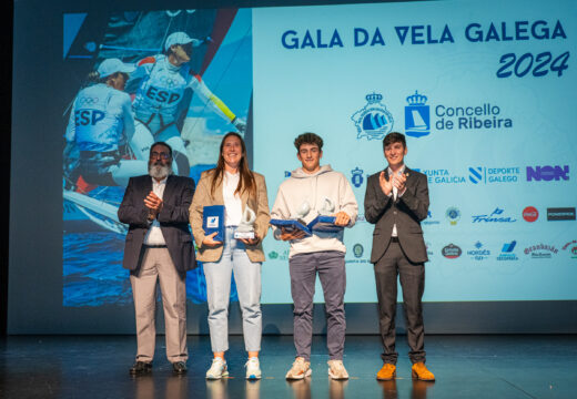
[(188, 64), (192, 48), (200, 44), (200, 40), (184, 32), (170, 34), (164, 43), (164, 53), (141, 60), (128, 83), (129, 88), (133, 88), (134, 82), (138, 82), (132, 104), (136, 131), (130, 144), (136, 158), (148, 160), (152, 143), (165, 142), (173, 150), (175, 173), (184, 176), (190, 173), (190, 162), (176, 122), (186, 89), (192, 89), (206, 105), (229, 120), (241, 133), (245, 130), (244, 121), (236, 117)]

